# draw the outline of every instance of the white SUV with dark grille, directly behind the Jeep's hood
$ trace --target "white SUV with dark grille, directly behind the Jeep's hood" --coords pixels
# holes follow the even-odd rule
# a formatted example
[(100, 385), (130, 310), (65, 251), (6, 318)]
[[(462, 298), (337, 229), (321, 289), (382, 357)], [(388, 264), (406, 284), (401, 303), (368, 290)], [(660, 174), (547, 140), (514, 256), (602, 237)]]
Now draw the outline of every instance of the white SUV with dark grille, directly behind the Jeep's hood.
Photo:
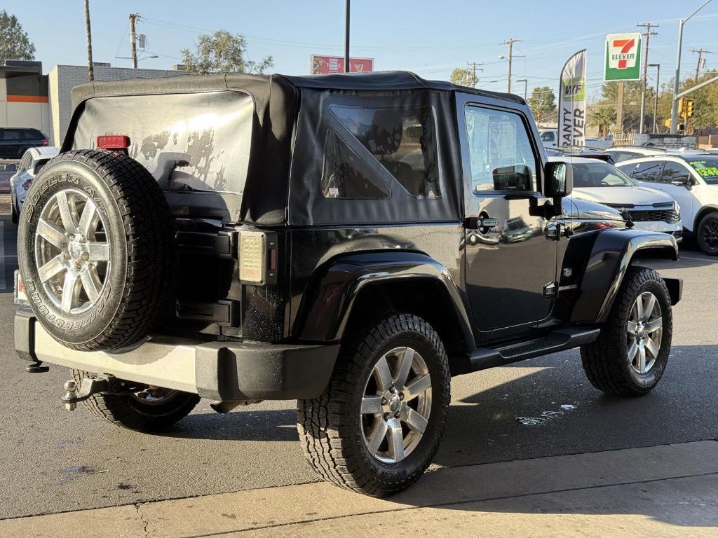
[[(561, 159), (566, 161), (565, 157), (549, 157), (549, 161)], [(663, 232), (681, 240), (681, 209), (668, 194), (640, 187), (615, 166), (598, 159), (573, 157), (569, 162), (573, 169), (574, 197), (628, 213), (638, 230)]]

